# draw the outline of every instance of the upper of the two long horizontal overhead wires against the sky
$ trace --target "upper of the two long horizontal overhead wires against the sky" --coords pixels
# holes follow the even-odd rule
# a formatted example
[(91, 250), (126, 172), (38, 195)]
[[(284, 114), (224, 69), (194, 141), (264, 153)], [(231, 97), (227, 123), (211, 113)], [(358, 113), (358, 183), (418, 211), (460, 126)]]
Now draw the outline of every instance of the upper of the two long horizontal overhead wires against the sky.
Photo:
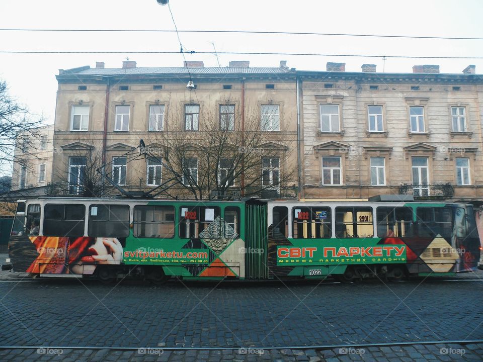
[(249, 31), (249, 30), (155, 30), (155, 29), (0, 29), (0, 31), (22, 32), (138, 32), (138, 33), (220, 33), (220, 34), (280, 34), (280, 35), (319, 35), (319, 36), (347, 36), (372, 38), (402, 38), (402, 39), (442, 39), (442, 40), (483, 40), (475, 37), (437, 37), (414, 35), (380, 35), (380, 34), (345, 34), (345, 33), (311, 33), (311, 32), (278, 32), (278, 31)]

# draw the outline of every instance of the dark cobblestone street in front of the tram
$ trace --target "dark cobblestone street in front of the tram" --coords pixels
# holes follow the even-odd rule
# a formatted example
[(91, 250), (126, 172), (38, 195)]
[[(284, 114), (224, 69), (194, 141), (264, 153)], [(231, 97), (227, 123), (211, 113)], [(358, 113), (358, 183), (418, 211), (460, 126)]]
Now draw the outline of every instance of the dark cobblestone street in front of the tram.
[[(471, 343), (483, 338), (479, 276), (349, 285), (178, 281), (154, 287), (31, 280), (2, 272), (0, 345), (6, 349), (0, 359), (38, 359), (40, 353), (43, 360), (316, 361), (382, 355), (408, 361), (428, 356), (481, 360), (483, 345)], [(424, 341), (434, 343), (397, 345)], [(367, 346), (371, 343), (394, 344)], [(9, 346), (42, 346), (44, 353)], [(102, 349), (116, 347), (130, 349)]]

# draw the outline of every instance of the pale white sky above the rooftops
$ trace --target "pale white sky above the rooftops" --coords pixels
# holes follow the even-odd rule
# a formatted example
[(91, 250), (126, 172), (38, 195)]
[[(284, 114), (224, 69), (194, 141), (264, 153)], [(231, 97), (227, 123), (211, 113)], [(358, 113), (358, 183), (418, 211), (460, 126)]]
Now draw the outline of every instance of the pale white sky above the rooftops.
[[(322, 0), (170, 0), (178, 30), (243, 30), (344, 33), (373, 35), (483, 38), (481, 0), (350, 1)], [(155, 0), (2, 0), (2, 29), (126, 29), (174, 30), (167, 6)], [(174, 51), (176, 33), (0, 31), (0, 51)], [(277, 52), (318, 54), (373, 54), (404, 56), (483, 57), (483, 40), (395, 39), (321, 35), (260, 35), (180, 33), (187, 50), (218, 52)], [(58, 69), (104, 61), (120, 68), (129, 57), (138, 67), (182, 66), (181, 54), (6, 54), (0, 53), (0, 79), (11, 94), (46, 123), (53, 123)], [(218, 66), (213, 54), (186, 54)], [(230, 60), (250, 60), (250, 66), (278, 67), (287, 60), (299, 70), (326, 70), (328, 61), (345, 62), (346, 71), (381, 58), (342, 56), (219, 55), (221, 66)], [(483, 73), (483, 59), (387, 59), (386, 72), (411, 72), (416, 64), (440, 64), (442, 73), (461, 73), (469, 64)]]

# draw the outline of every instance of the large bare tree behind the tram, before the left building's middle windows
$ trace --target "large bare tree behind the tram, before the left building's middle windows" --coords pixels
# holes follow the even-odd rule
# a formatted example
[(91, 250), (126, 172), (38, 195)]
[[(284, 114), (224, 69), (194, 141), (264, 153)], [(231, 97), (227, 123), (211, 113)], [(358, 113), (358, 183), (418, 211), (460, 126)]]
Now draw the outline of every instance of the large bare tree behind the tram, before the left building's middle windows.
[(149, 142), (162, 147), (163, 162), (178, 176), (177, 196), (296, 197), (296, 142), (280, 129), (280, 119), (273, 126), (279, 131), (267, 131), (268, 118), (261, 120), (254, 108), (241, 112), (234, 102), (221, 105), (219, 113), (195, 115), (172, 107), (165, 118), (163, 131), (151, 135)]

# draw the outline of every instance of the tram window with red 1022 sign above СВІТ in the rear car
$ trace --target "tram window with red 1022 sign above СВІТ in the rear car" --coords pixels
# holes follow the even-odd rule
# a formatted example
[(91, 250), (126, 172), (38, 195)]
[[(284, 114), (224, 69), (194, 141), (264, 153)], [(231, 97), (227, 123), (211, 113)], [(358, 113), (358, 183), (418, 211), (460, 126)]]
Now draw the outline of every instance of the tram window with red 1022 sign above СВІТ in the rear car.
[(292, 220), (295, 239), (332, 237), (331, 208), (294, 207)]

